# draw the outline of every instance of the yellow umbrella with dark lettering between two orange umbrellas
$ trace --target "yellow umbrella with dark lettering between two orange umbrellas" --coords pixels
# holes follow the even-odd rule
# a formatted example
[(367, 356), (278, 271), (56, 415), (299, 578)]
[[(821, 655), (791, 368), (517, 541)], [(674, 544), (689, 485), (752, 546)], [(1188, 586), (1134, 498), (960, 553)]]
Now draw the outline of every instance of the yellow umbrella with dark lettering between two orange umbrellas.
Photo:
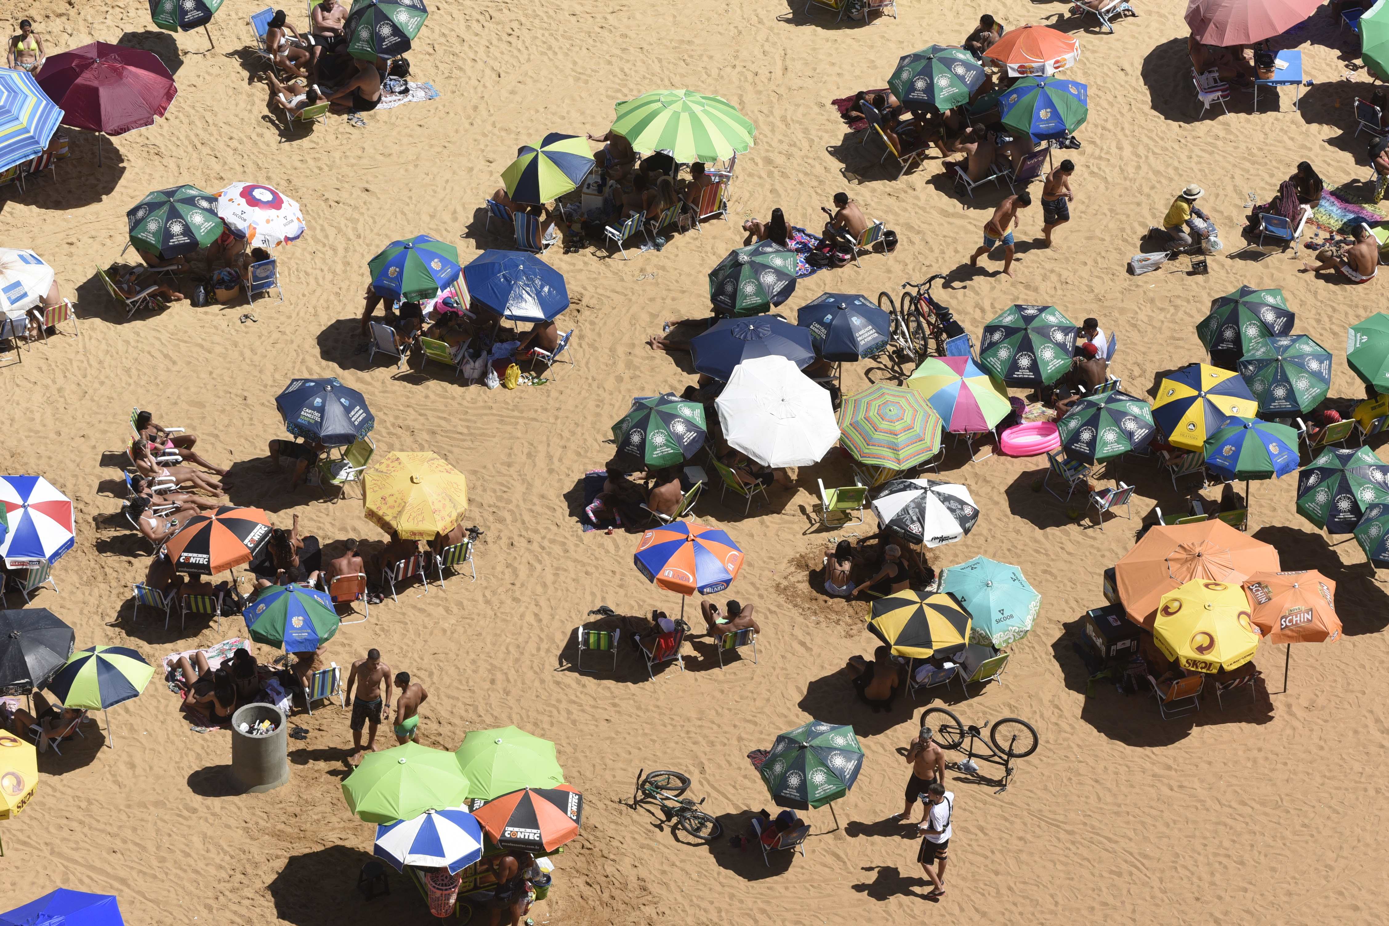
[(1238, 669), (1258, 648), (1245, 589), (1208, 579), (1192, 579), (1163, 596), (1153, 639), (1164, 655), (1195, 672)]

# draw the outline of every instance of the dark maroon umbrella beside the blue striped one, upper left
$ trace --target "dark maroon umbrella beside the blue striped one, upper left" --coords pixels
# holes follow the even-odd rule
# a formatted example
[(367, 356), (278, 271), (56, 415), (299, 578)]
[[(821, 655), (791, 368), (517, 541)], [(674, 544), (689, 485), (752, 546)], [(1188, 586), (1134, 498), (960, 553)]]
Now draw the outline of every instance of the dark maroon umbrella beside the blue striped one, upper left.
[(106, 42), (49, 56), (38, 79), (63, 107), (63, 125), (106, 135), (154, 125), (178, 96), (157, 54)]

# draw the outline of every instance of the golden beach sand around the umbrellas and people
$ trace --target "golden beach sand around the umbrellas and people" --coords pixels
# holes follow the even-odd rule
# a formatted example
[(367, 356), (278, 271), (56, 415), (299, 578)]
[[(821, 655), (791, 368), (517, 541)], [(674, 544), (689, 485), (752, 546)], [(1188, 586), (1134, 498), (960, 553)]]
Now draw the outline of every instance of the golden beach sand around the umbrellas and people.
[[(1079, 132), (1083, 149), (1068, 153), (1078, 165), (1076, 200), (1056, 247), (1031, 244), (1042, 225), (1035, 205), (1024, 211), (1015, 279), (995, 275), (995, 255), (982, 262), (988, 273), (960, 275), (938, 296), (976, 339), (1013, 301), (1056, 304), (1078, 322), (1095, 315), (1120, 336), (1113, 372), (1125, 389), (1145, 393), (1160, 371), (1204, 358), (1193, 329), (1211, 298), (1242, 283), (1276, 286), (1297, 312), (1296, 330), (1336, 355), (1331, 394), (1357, 397), (1361, 385), (1345, 365), (1346, 326), (1382, 307), (1389, 282), (1314, 280), (1295, 272), (1292, 253), (1257, 264), (1228, 260), (1239, 247), (1246, 190), (1270, 199), (1301, 160), (1328, 187), (1367, 176), (1364, 137), (1351, 139), (1351, 97), (1356, 89), (1368, 94), (1368, 85), (1364, 76), (1342, 79), (1345, 61), (1354, 60), (1349, 33), (1322, 10), (1288, 36), (1315, 81), (1303, 89), (1300, 111), (1290, 87), (1278, 93), (1276, 111), (1261, 93), (1257, 115), (1250, 96), (1235, 92), (1229, 115), (1197, 121), (1183, 4), (1135, 6), (1142, 17), (1120, 22), (1114, 35), (1076, 32), (1082, 56), (1065, 76), (1089, 83), (1093, 115)], [(235, 503), (264, 507), (286, 526), (297, 512), (329, 550), (346, 537), (379, 548), (383, 534), (360, 501), (290, 493), (288, 476), (265, 460), (267, 441), (285, 436), (275, 394), (293, 376), (333, 375), (367, 396), (382, 451), (433, 450), (467, 473), (465, 523), (485, 534), (476, 583), (450, 578), (446, 589), (408, 587), (399, 604), (374, 607), (369, 622), (343, 628), (328, 657), (347, 666), (379, 647), (393, 669), (424, 682), (426, 746), (451, 750), (469, 729), (507, 723), (554, 740), (586, 807), (582, 834), (556, 858), (553, 894), (532, 912), (538, 923), (1378, 918), (1379, 859), (1389, 852), (1389, 800), (1376, 783), (1389, 743), (1389, 682), (1378, 671), (1389, 655), (1389, 596), (1353, 541), (1328, 547), (1295, 514), (1293, 478), (1253, 486), (1251, 530), (1279, 548), (1285, 569), (1317, 568), (1338, 582), (1343, 640), (1299, 647), (1286, 693), (1283, 651), (1263, 647), (1257, 664), (1271, 697), (1261, 684), (1253, 705), (1246, 693), (1222, 712), (1211, 698), (1195, 718), (1163, 722), (1146, 697), (1107, 684), (1086, 697), (1071, 640), (1079, 615), (1103, 604), (1100, 573), (1132, 546), (1138, 519), (1154, 504), (1182, 507), (1167, 476), (1149, 461), (1125, 461), (1121, 478), (1139, 487), (1135, 519), (1100, 532), (1074, 523), (1068, 505), (1038, 491), (1039, 460), (971, 464), (951, 450), (945, 475), (970, 487), (982, 516), (961, 543), (932, 551), (932, 564), (981, 554), (1015, 562), (1043, 603), (1036, 629), (1013, 648), (1003, 684), (967, 702), (956, 693), (945, 701), (967, 722), (1025, 718), (1042, 746), (1004, 794), (951, 773), (954, 839), (939, 907), (924, 900), (929, 884), (910, 830), (885, 822), (901, 809), (907, 766), (899, 750), (925, 700), (901, 698), (892, 715), (853, 701), (839, 671), (849, 655), (872, 651), (875, 640), (861, 629), (867, 607), (828, 600), (808, 578), (832, 537), (874, 529), (871, 518), (845, 533), (814, 528), (815, 478), (847, 483), (842, 457), (803, 468), (795, 493), (774, 490), (750, 516), (714, 493), (696, 508), (747, 551), (729, 594), (757, 604), (758, 664), (735, 659), (720, 671), (708, 643), (694, 640), (686, 671), (667, 668), (656, 680), (625, 647), (615, 676), (558, 668), (561, 654), (572, 657), (574, 628), (599, 605), (625, 615), (679, 608), (632, 566), (636, 534), (582, 533), (575, 518), (583, 472), (611, 455), (608, 429), (631, 397), (693, 382), (688, 362), (651, 351), (646, 337), (663, 319), (707, 310), (706, 273), (742, 243), (745, 218), (781, 207), (793, 224), (817, 229), (818, 207), (836, 190), (885, 219), (900, 247), (864, 257), (861, 268), (801, 280), (788, 310), (826, 289), (875, 298), (904, 279), (963, 264), (1000, 194), (983, 187), (974, 201), (953, 196), (936, 158), (890, 179), (876, 165), (876, 143), (861, 149), (846, 139), (829, 100), (882, 86), (900, 54), (961, 40), (982, 11), (1010, 26), (1061, 17), (1063, 28), (1076, 31), (1065, 3), (901, 0), (900, 19), (867, 28), (804, 14), (800, 0), (456, 4), (431, 12), (410, 53), (414, 79), (431, 81), (438, 100), (367, 114), (365, 128), (333, 117), (293, 136), (272, 124), (263, 86), (249, 81), (242, 44), (254, 10), (228, 0), (211, 24), (210, 51), (201, 31), (176, 39), (153, 31), (140, 3), (32, 0), (14, 12), (35, 21), (50, 54), (121, 39), (178, 65), (168, 117), (103, 140), (104, 167), (96, 167), (94, 139), (71, 132), (74, 157), (60, 162), (57, 182), (35, 182), (24, 194), (10, 187), (0, 203), (0, 243), (43, 255), (82, 317), (81, 339), (33, 346), (22, 365), (0, 375), (0, 469), (42, 473), (76, 507), (76, 548), (54, 569), (61, 593), (40, 591), (35, 605), (72, 623), (79, 647), (132, 646), (157, 662), (239, 626), (228, 621), (218, 633), (194, 623), (181, 633), (176, 619), (167, 632), (149, 612), (132, 619), (129, 589), (149, 565), (149, 544), (119, 514), (118, 451), (132, 405), (199, 433), (199, 450), (213, 461), (235, 461)], [(289, 12), (303, 24), (301, 7)], [(482, 205), (515, 147), (551, 131), (600, 132), (614, 101), (667, 86), (725, 96), (756, 122), (756, 147), (739, 158), (729, 222), (629, 261), (550, 251), (546, 260), (574, 296), (560, 321), (576, 329), (576, 368), (515, 392), (464, 387), (439, 371), (367, 368), (357, 315), (369, 257), (415, 233), (457, 243), (465, 260), (507, 247), (483, 230)], [(218, 190), (233, 180), (269, 183), (303, 207), (308, 233), (278, 255), (285, 301), (263, 298), (253, 310), (181, 304), (126, 321), (93, 275), (121, 251), (125, 210), (153, 189)], [(1201, 205), (1226, 250), (1210, 260), (1207, 276), (1189, 275), (1186, 258), (1128, 276), (1139, 236), (1188, 183), (1206, 187)], [(238, 323), (246, 311), (258, 322)], [(850, 392), (865, 367), (846, 371)], [(807, 814), (814, 834), (804, 858), (764, 866), (726, 840), (683, 845), (624, 805), (639, 769), (679, 769), (728, 834), (740, 832), (750, 811), (770, 805), (745, 754), (810, 718), (853, 723), (867, 759), (833, 816)], [(136, 925), (429, 919), (394, 873), (390, 897), (364, 904), (354, 890), (372, 827), (347, 812), (339, 793), (347, 714), (296, 715), (308, 737), (290, 743), (290, 784), (258, 795), (231, 793), (228, 734), (190, 732), (158, 679), (110, 721), (115, 750), (100, 748), (104, 733), (89, 726), (63, 758), (40, 759), (33, 801), (0, 823), (0, 907), (65, 886), (118, 894)]]

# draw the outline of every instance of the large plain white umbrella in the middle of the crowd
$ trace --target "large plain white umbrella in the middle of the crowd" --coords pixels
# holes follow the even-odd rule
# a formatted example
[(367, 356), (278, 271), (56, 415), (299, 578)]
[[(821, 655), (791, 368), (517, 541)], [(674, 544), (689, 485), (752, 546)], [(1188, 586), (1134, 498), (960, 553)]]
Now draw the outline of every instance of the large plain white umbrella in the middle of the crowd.
[(810, 466), (839, 443), (829, 390), (785, 357), (735, 367), (715, 404), (724, 440), (764, 466)]

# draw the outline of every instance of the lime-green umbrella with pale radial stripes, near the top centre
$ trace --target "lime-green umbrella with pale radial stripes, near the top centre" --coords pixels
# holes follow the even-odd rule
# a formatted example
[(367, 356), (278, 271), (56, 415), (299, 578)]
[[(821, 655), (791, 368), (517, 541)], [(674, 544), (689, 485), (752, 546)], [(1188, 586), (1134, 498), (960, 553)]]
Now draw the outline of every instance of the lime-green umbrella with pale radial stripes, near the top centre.
[(724, 97), (653, 90), (618, 103), (613, 131), (643, 154), (669, 151), (682, 164), (708, 164), (753, 147), (757, 129)]

